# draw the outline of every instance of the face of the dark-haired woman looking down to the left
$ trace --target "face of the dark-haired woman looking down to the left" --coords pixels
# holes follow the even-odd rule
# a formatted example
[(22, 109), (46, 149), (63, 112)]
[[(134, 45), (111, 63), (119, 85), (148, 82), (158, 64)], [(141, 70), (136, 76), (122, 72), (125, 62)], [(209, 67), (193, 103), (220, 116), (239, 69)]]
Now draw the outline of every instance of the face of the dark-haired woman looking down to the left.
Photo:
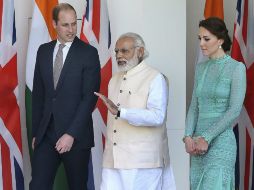
[(211, 58), (216, 57), (219, 51), (219, 46), (222, 44), (222, 40), (218, 39), (204, 27), (199, 28), (198, 38), (200, 40), (200, 48), (203, 55)]

